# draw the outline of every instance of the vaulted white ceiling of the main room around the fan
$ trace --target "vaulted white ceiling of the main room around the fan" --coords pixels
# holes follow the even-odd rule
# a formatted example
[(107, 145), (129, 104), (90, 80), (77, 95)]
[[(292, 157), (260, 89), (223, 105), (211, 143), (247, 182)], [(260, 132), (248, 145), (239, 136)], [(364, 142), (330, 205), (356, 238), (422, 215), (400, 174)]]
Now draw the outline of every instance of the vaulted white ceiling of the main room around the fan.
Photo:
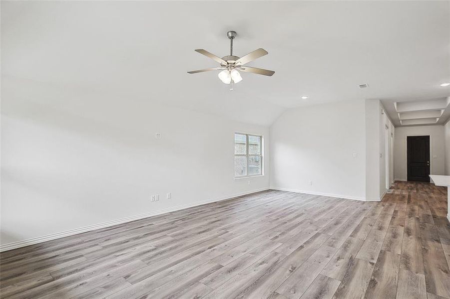
[[(270, 125), (290, 107), (450, 96), (449, 1), (1, 1), (4, 78), (95, 89)], [(230, 13), (232, 11), (232, 13)], [(230, 92), (194, 52), (269, 52)], [(368, 83), (360, 89), (358, 84)], [(300, 97), (308, 95), (309, 99)]]

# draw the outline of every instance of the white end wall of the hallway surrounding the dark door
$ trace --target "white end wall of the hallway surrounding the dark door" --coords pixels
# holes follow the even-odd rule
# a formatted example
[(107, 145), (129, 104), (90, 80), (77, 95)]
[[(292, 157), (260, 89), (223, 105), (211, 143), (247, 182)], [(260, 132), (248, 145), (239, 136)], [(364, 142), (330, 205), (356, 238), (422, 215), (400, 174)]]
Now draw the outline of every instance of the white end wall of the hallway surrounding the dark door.
[[(395, 178), (406, 180), (406, 138), (407, 136), (430, 135), (431, 174), (445, 173), (444, 126), (398, 127), (395, 134)], [(436, 156), (436, 157), (435, 157)]]

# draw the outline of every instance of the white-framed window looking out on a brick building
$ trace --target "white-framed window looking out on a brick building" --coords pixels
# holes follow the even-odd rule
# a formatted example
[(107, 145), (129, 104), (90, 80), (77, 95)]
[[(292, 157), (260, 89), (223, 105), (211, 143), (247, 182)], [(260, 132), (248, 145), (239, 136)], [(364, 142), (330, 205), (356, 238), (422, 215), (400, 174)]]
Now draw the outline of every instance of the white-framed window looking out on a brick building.
[(234, 134), (234, 177), (261, 175), (263, 170), (262, 136)]

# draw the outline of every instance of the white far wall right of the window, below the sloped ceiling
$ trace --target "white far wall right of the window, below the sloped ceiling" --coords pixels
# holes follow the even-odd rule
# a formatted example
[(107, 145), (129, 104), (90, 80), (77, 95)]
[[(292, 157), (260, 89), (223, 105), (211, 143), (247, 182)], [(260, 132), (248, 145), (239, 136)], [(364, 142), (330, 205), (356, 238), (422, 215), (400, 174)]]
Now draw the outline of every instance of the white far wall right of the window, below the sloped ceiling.
[(364, 100), (289, 110), (270, 136), (271, 187), (365, 198)]

